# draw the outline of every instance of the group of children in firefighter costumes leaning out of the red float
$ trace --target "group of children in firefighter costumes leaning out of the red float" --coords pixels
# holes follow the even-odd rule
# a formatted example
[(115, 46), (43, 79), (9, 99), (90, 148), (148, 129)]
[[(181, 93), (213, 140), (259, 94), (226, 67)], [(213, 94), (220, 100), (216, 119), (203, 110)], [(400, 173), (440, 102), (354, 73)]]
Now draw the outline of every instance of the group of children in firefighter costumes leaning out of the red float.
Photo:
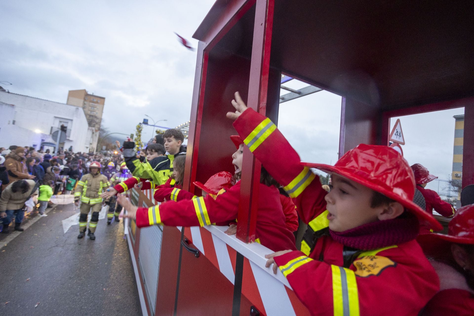
[[(413, 202), (417, 184), (426, 203), (436, 200), (423, 188), (433, 180), (429, 173), (425, 178), (417, 175), (427, 172), (422, 166), (410, 167), (388, 146), (365, 144), (345, 153), (334, 166), (301, 163), (269, 118), (246, 108), (238, 93), (232, 105), (236, 111), (228, 117), (235, 120), (239, 134), (231, 137), (237, 149), (232, 155), (234, 175), (219, 172), (204, 185), (195, 182), (203, 191), (197, 197), (182, 190), (182, 141), (173, 136), (173, 152), (168, 147), (163, 156), (146, 163), (135, 156), (134, 143), (125, 142), (124, 157), (136, 177), (103, 197), (134, 185), (153, 189), (155, 199), (165, 203), (138, 208), (118, 197), (128, 211), (125, 216), (136, 219), (138, 227), (217, 224), (230, 225), (228, 232), (234, 233), (247, 146), (262, 163), (256, 241), (274, 251), (266, 255), (266, 267), (273, 265), (275, 273), (283, 273), (312, 315), (474, 315), (473, 205), (456, 212), (448, 235), (429, 233), (442, 226)], [(331, 175), (329, 192), (310, 168)], [(297, 219), (295, 224), (292, 217), (288, 225), (290, 217), (283, 212), (281, 186), (294, 203), (292, 210), (296, 207), (309, 226), (301, 251), (292, 234)], [(454, 208), (439, 205), (442, 211), (446, 208), (443, 215), (453, 215)], [(427, 234), (419, 234), (420, 226)]]

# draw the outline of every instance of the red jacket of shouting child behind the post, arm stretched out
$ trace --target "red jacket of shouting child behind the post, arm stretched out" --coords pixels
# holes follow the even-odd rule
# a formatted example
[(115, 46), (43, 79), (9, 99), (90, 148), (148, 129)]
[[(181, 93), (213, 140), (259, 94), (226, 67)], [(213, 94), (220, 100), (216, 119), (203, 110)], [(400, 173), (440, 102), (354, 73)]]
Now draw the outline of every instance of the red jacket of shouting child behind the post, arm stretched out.
[[(237, 218), (240, 181), (213, 199), (211, 195), (180, 202), (168, 201), (152, 208), (138, 208), (137, 226), (205, 226)], [(285, 226), (280, 193), (275, 187), (260, 184), (256, 236), (273, 251), (295, 250), (295, 238)]]

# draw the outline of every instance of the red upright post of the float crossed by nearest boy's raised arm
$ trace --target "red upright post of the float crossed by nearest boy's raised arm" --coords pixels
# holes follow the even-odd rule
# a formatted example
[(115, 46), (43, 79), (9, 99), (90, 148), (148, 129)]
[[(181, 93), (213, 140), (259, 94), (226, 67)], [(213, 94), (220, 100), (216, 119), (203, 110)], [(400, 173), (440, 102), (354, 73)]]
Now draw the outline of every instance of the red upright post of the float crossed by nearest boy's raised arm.
[[(274, 0), (257, 0), (250, 65), (247, 106), (265, 115), (270, 49), (272, 44)], [(237, 238), (246, 243), (255, 241), (258, 186), (261, 163), (245, 147), (242, 162), (240, 202), (237, 216)]]

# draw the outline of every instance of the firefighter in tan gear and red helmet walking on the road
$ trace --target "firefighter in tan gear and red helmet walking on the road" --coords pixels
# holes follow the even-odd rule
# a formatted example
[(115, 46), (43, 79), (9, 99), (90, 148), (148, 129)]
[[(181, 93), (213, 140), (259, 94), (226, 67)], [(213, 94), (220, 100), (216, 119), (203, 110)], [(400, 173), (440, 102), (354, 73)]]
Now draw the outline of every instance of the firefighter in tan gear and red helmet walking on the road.
[(92, 209), (91, 222), (89, 223), (89, 233), (87, 234), (91, 240), (95, 240), (95, 228), (99, 222), (99, 212), (102, 205), (100, 194), (109, 188), (109, 180), (100, 173), (102, 166), (99, 162), (94, 161), (89, 165), (89, 172), (82, 176), (77, 182), (76, 190), (74, 190), (74, 204), (79, 205), (81, 200), (81, 215), (79, 217), (79, 235), (82, 238), (87, 228), (87, 215)]

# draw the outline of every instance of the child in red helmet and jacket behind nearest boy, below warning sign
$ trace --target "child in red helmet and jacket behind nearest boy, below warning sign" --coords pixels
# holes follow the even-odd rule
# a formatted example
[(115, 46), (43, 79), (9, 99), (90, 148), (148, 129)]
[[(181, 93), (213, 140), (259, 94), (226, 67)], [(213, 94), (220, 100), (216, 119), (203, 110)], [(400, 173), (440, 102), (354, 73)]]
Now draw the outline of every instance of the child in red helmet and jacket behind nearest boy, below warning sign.
[[(453, 206), (448, 202), (443, 201), (435, 191), (425, 189), (428, 182), (431, 182), (438, 177), (430, 174), (428, 169), (420, 163), (415, 163), (411, 165), (410, 168), (413, 170), (413, 174), (415, 175), (416, 188), (425, 198), (425, 211), (428, 214), (433, 215), (434, 209), (444, 217), (453, 217), (456, 211), (455, 208), (453, 208)], [(426, 225), (421, 225), (419, 228), (420, 234), (428, 234), (430, 232), (433, 232), (433, 230)]]

